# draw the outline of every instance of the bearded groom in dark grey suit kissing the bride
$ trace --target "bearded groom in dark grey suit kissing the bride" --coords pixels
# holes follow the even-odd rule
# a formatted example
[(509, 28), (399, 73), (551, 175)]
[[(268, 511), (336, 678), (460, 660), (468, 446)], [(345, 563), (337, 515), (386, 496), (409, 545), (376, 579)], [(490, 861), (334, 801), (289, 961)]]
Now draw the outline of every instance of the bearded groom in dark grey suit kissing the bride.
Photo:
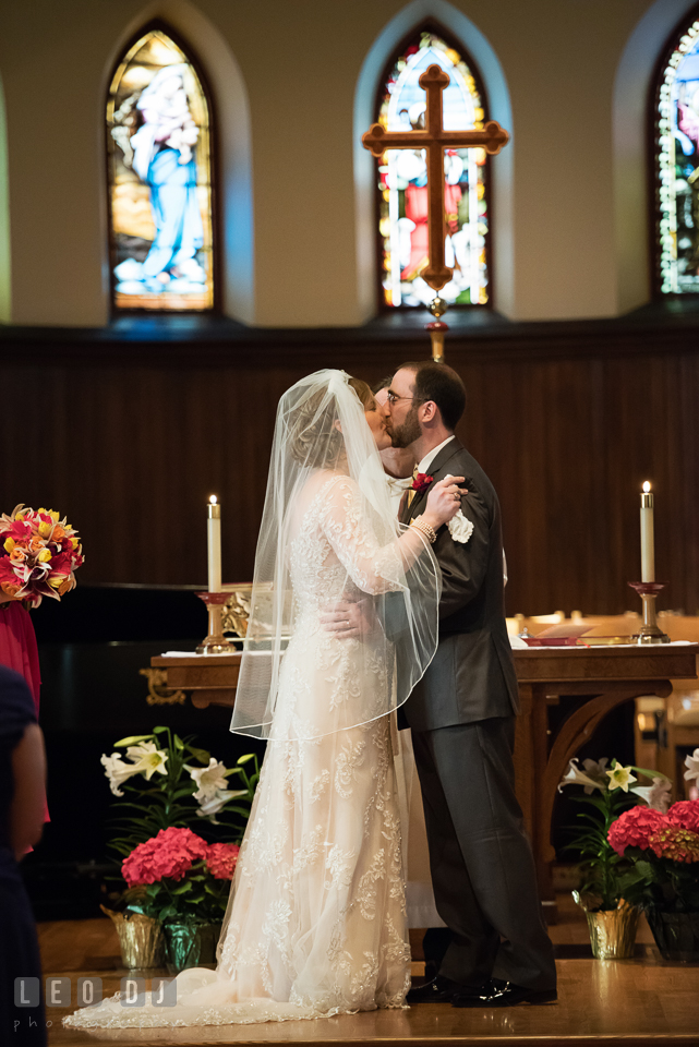
[(401, 522), (420, 516), (431, 484), (451, 474), (466, 477), (461, 509), (473, 524), (466, 541), (466, 526), (437, 534), (439, 643), (399, 712), (400, 725), (412, 731), (437, 911), (451, 931), (436, 978), (412, 989), (408, 1002), (552, 1003), (553, 947), (515, 796), (517, 679), (504, 617), (499, 504), (454, 435), (465, 406), (458, 374), (429, 361), (396, 372), (386, 407), (394, 445), (410, 449), (423, 474), (414, 497), (403, 501)]

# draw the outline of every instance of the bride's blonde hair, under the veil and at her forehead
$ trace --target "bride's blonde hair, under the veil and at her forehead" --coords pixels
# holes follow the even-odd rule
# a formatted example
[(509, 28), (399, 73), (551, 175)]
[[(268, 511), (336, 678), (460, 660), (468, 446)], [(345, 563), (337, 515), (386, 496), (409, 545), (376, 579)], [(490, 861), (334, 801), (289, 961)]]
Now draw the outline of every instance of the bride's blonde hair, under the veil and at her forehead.
[[(361, 378), (348, 378), (347, 384), (357, 394), (364, 411), (375, 404), (374, 394)], [(297, 408), (289, 418), (289, 446), (297, 461), (310, 469), (330, 468), (345, 450), (345, 437), (336, 425), (337, 412), (325, 389), (318, 389)]]

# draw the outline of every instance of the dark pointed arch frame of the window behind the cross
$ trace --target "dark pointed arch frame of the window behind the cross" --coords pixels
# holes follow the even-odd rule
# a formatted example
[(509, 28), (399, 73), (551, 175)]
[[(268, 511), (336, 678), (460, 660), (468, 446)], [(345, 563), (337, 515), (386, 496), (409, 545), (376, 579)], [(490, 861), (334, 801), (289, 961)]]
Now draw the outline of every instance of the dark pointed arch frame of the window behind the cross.
[[(448, 28), (446, 28), (441, 22), (436, 19), (425, 19), (423, 22), (418, 23), (413, 26), (408, 33), (406, 33), (399, 40), (399, 43), (390, 51), (390, 55), (384, 67), (382, 69), (381, 75), (376, 82), (376, 91), (374, 93), (374, 107), (372, 120), (378, 120), (378, 115), (381, 107), (384, 100), (386, 93), (386, 84), (388, 81), (388, 75), (396, 65), (398, 59), (405, 55), (406, 50), (419, 39), (421, 34), (432, 33), (434, 36), (441, 37), (444, 43), (457, 51), (460, 56), (461, 61), (468, 67), (475, 87), (478, 89), (481, 108), (483, 109), (483, 122), (491, 119), (490, 113), (490, 100), (487, 95), (487, 89), (485, 87), (485, 81), (481, 73), (481, 70), (478, 65), (478, 62), (472, 57), (468, 47)], [(482, 312), (484, 310), (493, 311), (495, 309), (495, 286), (493, 279), (493, 229), (494, 229), (494, 215), (493, 215), (493, 188), (492, 188), (492, 157), (486, 154), (485, 163), (483, 165), (483, 185), (484, 185), (484, 197), (486, 203), (486, 213), (489, 216), (487, 220), (487, 234), (485, 237), (485, 272), (487, 273), (487, 301), (486, 302), (470, 302), (470, 303), (456, 303), (449, 305), (449, 310), (459, 310), (463, 312), (470, 312), (475, 310)], [(374, 174), (376, 173), (376, 169)], [(374, 240), (375, 240), (375, 286), (378, 303), (378, 313), (381, 315), (391, 315), (399, 313), (411, 313), (420, 309), (425, 309), (426, 306), (422, 305), (389, 305), (385, 300), (384, 293), (384, 284), (383, 284), (383, 262), (384, 262), (384, 244), (383, 237), (379, 230), (381, 222), (381, 189), (378, 186), (378, 181), (374, 177)]]

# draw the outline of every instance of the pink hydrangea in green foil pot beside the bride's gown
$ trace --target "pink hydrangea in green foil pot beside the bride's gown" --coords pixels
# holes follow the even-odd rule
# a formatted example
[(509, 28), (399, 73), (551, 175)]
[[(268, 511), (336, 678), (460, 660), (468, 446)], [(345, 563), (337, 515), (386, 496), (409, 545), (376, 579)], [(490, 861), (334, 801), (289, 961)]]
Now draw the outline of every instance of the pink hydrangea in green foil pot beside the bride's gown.
[(206, 843), (191, 829), (161, 829), (122, 863), (132, 908), (157, 920), (170, 973), (216, 962), (240, 847)]

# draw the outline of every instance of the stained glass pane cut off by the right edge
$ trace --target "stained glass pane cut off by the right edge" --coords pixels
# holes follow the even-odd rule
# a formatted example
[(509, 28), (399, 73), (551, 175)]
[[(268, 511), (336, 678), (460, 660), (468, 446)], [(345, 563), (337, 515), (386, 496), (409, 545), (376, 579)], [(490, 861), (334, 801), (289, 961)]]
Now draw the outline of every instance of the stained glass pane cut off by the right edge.
[(699, 294), (699, 21), (663, 63), (654, 120), (660, 290)]

